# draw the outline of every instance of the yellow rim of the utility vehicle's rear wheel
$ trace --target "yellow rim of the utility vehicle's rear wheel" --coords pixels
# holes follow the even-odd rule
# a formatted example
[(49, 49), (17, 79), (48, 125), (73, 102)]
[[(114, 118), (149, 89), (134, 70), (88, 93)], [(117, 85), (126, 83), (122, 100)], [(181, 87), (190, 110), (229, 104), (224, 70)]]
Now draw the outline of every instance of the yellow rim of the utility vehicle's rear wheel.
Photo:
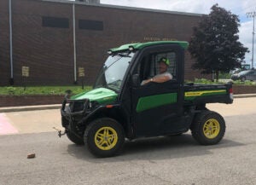
[(208, 119), (203, 125), (203, 133), (208, 139), (214, 139), (218, 136), (220, 124), (217, 119)]

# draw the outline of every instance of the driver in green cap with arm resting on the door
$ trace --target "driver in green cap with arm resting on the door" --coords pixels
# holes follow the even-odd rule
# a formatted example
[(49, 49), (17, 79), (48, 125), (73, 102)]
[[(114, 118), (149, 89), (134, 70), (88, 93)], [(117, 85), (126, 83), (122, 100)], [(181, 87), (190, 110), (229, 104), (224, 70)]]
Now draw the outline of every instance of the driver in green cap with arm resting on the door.
[(160, 58), (158, 61), (159, 74), (155, 75), (153, 78), (143, 80), (142, 85), (148, 84), (149, 82), (163, 83), (172, 79), (172, 74), (167, 72), (170, 61), (166, 57)]

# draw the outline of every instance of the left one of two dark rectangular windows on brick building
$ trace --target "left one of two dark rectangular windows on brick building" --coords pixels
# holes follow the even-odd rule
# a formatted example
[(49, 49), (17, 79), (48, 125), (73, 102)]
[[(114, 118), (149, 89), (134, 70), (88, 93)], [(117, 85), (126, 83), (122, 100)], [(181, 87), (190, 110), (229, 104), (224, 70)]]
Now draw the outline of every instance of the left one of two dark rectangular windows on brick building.
[(69, 28), (69, 20), (59, 17), (42, 17), (42, 26)]

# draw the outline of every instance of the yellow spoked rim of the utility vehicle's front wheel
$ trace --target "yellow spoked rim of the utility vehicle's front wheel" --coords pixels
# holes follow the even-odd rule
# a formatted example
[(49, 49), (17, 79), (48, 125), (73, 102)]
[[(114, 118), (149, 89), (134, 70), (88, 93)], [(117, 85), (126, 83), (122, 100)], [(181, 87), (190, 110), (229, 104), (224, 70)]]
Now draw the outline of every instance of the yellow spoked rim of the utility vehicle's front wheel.
[(118, 142), (118, 135), (116, 130), (112, 127), (102, 127), (96, 131), (94, 136), (94, 142), (96, 147), (101, 150), (110, 150), (115, 147), (116, 143)]

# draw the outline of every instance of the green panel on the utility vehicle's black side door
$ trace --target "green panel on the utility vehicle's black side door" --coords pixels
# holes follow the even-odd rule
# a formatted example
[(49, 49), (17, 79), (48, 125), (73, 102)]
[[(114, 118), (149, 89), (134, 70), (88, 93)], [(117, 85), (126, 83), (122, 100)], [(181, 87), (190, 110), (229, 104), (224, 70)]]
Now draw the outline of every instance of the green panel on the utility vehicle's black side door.
[(177, 93), (168, 93), (163, 95), (149, 95), (142, 97), (137, 102), (137, 113), (143, 112), (150, 108), (160, 107), (167, 104), (172, 104), (177, 102)]

